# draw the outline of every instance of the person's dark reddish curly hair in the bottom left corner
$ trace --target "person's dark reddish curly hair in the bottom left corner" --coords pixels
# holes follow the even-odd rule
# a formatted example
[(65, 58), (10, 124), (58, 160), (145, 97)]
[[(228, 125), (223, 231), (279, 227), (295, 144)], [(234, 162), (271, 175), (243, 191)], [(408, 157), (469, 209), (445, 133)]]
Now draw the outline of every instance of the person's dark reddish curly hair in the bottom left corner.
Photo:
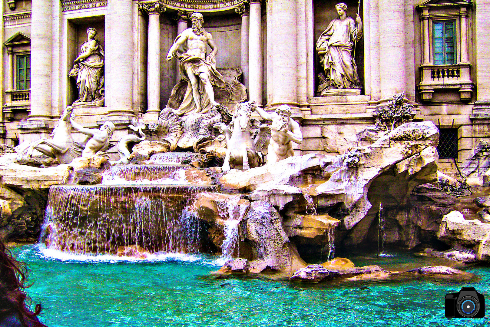
[(46, 327), (36, 318), (41, 304), (36, 304), (34, 312), (27, 306), (30, 298), (24, 289), (32, 284), (24, 285), (26, 275), (25, 263), (17, 261), (0, 240), (0, 317), (17, 314), (25, 327)]

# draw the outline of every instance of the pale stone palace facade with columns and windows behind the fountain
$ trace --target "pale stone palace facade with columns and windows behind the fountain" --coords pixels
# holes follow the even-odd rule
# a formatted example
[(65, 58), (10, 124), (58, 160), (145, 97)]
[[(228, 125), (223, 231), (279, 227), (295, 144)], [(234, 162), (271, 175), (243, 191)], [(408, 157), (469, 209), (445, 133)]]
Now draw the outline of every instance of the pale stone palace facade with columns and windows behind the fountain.
[[(156, 121), (180, 80), (176, 59), (165, 54), (191, 26), (190, 15), (200, 12), (218, 48), (216, 67), (240, 69), (248, 100), (266, 110), (292, 108), (303, 134), (297, 154), (362, 145), (356, 135), (404, 92), (414, 120), (444, 129), (442, 156), (449, 158), (440, 159), (440, 169), (456, 173), (455, 165), (463, 166), (490, 135), (490, 0), (362, 1), (363, 36), (354, 54), (361, 94), (317, 97), (316, 43), (339, 17), (337, 3), (3, 0), (0, 141), (16, 145), (48, 136), (78, 99), (68, 73), (89, 27), (97, 29), (105, 52), (105, 95), (103, 105), (75, 103), (77, 122), (94, 128), (111, 121), (117, 141), (133, 117)], [(345, 4), (356, 20), (358, 1)]]

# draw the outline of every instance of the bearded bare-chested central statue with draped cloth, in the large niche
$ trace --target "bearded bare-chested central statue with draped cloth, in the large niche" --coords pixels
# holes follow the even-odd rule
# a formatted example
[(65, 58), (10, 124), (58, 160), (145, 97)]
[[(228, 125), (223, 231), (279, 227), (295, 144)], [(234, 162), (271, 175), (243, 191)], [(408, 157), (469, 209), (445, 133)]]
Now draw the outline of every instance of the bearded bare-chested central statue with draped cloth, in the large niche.
[[(187, 89), (177, 115), (189, 113), (206, 113), (215, 101), (213, 85), (224, 87), (223, 76), (216, 70), (216, 47), (213, 37), (202, 27), (204, 22), (200, 13), (191, 15), (192, 27), (187, 28), (175, 39), (167, 54), (167, 60), (175, 56), (180, 60), (179, 69), (182, 77), (187, 80)], [(211, 53), (206, 55), (206, 46)]]

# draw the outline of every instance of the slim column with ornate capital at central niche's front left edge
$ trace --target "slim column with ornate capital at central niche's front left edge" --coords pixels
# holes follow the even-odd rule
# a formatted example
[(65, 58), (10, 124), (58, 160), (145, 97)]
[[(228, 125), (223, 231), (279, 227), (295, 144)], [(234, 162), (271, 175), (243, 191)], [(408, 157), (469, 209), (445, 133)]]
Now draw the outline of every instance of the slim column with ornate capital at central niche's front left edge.
[(160, 113), (160, 12), (165, 7), (160, 1), (152, 1), (142, 6), (148, 13), (148, 110)]

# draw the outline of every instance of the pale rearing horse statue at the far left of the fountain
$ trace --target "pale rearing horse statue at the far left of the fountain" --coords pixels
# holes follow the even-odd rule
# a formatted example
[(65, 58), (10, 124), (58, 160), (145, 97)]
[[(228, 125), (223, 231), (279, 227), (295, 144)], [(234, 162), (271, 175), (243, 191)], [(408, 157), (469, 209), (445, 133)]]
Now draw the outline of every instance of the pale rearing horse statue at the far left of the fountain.
[(21, 161), (24, 155), (31, 157), (34, 150), (51, 158), (56, 158), (60, 164), (70, 163), (74, 158), (79, 157), (81, 152), (73, 144), (72, 121), (74, 115), (72, 110), (71, 106), (67, 106), (63, 111), (58, 120), (58, 125), (54, 127), (51, 133), (51, 139), (43, 137), (28, 144), (26, 148), (18, 151), (17, 160)]

